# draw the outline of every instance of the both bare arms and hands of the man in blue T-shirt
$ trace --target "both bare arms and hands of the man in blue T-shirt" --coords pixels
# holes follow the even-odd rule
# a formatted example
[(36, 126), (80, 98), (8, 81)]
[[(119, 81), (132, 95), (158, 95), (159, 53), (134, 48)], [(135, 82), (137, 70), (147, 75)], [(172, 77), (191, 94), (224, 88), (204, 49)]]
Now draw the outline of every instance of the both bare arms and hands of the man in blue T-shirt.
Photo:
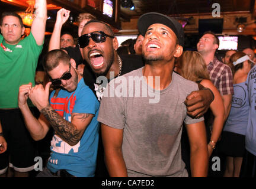
[[(46, 84), (45, 89), (41, 84), (32, 87), (31, 83), (20, 87), (18, 104), (23, 113), (25, 125), (32, 138), (36, 141), (43, 139), (49, 131), (49, 127), (52, 126), (63, 141), (71, 146), (76, 145), (80, 141), (94, 115), (87, 113), (72, 113), (71, 122), (63, 119), (62, 116), (49, 105), (49, 87), (50, 82)], [(34, 118), (28, 108), (28, 96), (41, 112), (38, 120)]]

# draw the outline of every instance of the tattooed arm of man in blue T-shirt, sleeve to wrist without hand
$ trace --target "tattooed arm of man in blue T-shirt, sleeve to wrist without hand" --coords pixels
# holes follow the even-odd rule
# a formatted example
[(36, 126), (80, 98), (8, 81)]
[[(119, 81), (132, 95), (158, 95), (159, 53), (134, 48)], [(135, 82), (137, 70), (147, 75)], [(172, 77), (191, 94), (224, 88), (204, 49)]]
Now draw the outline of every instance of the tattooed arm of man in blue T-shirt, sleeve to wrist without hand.
[(56, 134), (71, 146), (80, 141), (85, 129), (94, 117), (89, 113), (72, 113), (71, 122), (68, 122), (50, 105), (41, 109), (41, 114), (48, 120)]

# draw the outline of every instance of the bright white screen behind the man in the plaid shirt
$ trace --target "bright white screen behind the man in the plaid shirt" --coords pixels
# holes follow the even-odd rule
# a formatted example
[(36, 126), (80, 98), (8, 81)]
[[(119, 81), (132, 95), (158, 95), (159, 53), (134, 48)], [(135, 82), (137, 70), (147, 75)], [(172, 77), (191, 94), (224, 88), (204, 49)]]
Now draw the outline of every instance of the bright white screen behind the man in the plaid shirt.
[(238, 50), (238, 36), (218, 36), (218, 50)]

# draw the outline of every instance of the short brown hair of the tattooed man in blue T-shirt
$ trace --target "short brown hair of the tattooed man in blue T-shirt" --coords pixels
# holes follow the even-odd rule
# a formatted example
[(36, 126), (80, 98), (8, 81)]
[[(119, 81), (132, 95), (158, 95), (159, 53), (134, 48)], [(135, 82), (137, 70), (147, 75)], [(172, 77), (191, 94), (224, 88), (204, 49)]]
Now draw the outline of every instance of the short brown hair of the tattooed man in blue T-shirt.
[(55, 49), (49, 51), (44, 56), (43, 67), (44, 70), (48, 72), (55, 69), (59, 65), (60, 61), (63, 64), (71, 64), (70, 60), (71, 57), (69, 57), (63, 50)]

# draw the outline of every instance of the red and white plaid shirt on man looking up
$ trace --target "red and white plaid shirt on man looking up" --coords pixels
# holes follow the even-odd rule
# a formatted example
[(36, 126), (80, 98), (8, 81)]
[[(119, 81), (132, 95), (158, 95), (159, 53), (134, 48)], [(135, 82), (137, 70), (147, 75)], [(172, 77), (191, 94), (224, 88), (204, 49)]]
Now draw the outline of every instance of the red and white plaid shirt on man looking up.
[(215, 57), (213, 61), (208, 64), (207, 70), (210, 75), (210, 80), (221, 95), (233, 94), (233, 76), (231, 68), (228, 65), (223, 64)]

